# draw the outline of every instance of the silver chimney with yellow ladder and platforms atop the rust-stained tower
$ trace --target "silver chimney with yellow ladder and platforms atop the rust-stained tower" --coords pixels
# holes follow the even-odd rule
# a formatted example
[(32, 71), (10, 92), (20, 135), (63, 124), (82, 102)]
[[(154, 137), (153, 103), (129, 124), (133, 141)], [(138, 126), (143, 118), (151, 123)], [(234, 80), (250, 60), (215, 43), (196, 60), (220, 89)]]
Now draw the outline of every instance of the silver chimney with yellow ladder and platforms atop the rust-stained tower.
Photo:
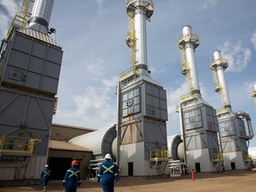
[(126, 12), (129, 16), (130, 30), (126, 44), (131, 48), (132, 64), (135, 71), (148, 76), (146, 20), (150, 20), (154, 12), (152, 0), (127, 0)]

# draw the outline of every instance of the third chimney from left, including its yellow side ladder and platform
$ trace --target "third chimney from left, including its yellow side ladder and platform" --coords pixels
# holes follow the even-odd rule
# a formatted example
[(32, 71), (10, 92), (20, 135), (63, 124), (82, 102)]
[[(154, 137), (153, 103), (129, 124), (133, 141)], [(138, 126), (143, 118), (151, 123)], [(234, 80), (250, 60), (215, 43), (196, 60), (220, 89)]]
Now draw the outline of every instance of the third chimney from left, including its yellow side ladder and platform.
[(192, 34), (190, 26), (182, 28), (182, 36), (178, 39), (181, 58), (181, 73), (188, 78), (191, 95), (201, 97), (196, 72), (195, 50), (199, 45), (199, 37)]

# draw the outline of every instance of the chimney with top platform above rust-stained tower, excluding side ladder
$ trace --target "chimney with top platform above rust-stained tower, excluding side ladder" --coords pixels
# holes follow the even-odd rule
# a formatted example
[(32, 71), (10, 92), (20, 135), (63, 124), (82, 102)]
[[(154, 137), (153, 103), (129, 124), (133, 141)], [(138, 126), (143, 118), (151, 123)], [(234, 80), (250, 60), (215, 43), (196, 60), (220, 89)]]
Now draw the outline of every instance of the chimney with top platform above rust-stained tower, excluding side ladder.
[(146, 20), (152, 16), (154, 4), (152, 0), (127, 0), (126, 12), (134, 16), (136, 67), (140, 74), (148, 76)]

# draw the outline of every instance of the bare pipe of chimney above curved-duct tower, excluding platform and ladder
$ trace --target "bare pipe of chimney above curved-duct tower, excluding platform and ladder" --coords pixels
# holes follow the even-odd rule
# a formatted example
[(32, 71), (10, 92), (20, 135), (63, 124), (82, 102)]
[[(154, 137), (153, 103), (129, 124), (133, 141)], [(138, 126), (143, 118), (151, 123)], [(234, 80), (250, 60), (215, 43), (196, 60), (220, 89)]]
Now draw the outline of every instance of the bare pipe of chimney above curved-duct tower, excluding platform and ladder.
[[(216, 62), (217, 60), (221, 60), (221, 54), (220, 51), (213, 52), (213, 58)], [(230, 100), (229, 100), (229, 95), (228, 95), (228, 87), (227, 87), (227, 82), (226, 82), (226, 77), (224, 73), (225, 69), (223, 68), (223, 65), (220, 64), (216, 68), (219, 84), (220, 84), (220, 95), (221, 95), (221, 100), (223, 107), (225, 108), (230, 108)]]

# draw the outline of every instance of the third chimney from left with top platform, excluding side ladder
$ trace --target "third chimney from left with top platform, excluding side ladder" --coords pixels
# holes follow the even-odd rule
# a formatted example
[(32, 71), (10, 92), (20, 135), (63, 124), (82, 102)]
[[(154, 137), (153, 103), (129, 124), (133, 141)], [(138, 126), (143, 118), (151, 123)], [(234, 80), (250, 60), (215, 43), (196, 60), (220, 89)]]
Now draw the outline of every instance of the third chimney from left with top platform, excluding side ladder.
[(192, 93), (199, 93), (200, 88), (198, 83), (197, 71), (196, 71), (196, 59), (195, 50), (199, 45), (199, 37), (192, 34), (190, 26), (182, 28), (182, 36), (179, 38), (179, 48), (185, 50), (186, 61), (188, 64), (188, 82)]

